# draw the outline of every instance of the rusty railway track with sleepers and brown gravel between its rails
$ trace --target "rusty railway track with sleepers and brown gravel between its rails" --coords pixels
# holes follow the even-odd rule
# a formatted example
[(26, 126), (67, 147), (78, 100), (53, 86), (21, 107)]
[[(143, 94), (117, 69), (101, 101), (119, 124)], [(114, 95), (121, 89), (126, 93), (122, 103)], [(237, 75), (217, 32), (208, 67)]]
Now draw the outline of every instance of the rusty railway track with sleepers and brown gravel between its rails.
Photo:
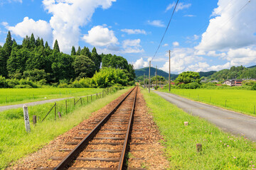
[[(60, 149), (65, 157), (51, 157), (50, 159), (59, 161), (57, 166), (37, 169), (127, 169), (125, 162), (131, 141), (137, 90), (138, 87), (134, 87), (110, 113), (95, 119), (92, 123), (94, 127), (81, 129), (80, 135), (73, 137), (73, 141), (67, 144), (76, 145), (75, 148)], [(135, 123), (139, 123), (139, 120)], [(132, 140), (140, 140), (139, 138), (134, 137)]]

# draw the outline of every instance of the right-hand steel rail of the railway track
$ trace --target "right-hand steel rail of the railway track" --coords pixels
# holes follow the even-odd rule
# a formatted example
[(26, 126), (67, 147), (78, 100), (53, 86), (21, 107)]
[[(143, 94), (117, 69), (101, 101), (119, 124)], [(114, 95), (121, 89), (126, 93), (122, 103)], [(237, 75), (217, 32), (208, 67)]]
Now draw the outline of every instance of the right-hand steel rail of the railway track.
[(131, 128), (132, 128), (132, 122), (133, 122), (133, 118), (134, 118), (134, 109), (135, 109), (135, 105), (136, 105), (137, 91), (138, 91), (138, 86), (137, 86), (135, 97), (134, 97), (132, 112), (131, 112), (131, 115), (130, 115), (130, 118), (129, 118), (127, 133), (126, 133), (125, 138), (124, 138), (124, 145), (123, 145), (123, 148), (122, 148), (122, 153), (121, 153), (121, 156), (120, 156), (120, 159), (119, 159), (119, 165), (118, 165), (118, 168), (117, 168), (118, 170), (122, 170), (122, 168), (124, 166), (125, 152), (127, 151), (127, 145), (128, 145), (128, 142), (129, 142), (130, 132), (131, 132)]

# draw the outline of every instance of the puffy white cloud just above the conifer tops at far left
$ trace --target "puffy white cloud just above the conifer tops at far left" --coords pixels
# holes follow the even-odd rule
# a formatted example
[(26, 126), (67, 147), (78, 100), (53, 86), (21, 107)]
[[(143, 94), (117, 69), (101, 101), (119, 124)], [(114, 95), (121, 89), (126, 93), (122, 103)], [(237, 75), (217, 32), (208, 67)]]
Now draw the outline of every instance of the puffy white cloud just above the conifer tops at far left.
[(17, 23), (16, 26), (8, 26), (8, 23), (4, 23), (4, 25), (8, 30), (11, 30), (11, 33), (18, 35), (21, 38), (26, 37), (26, 35), (30, 36), (31, 33), (33, 33), (35, 38), (40, 37), (45, 41), (52, 40), (52, 30), (50, 28), (50, 24), (46, 21), (34, 21), (33, 19), (25, 17), (23, 18), (23, 21), (21, 23)]

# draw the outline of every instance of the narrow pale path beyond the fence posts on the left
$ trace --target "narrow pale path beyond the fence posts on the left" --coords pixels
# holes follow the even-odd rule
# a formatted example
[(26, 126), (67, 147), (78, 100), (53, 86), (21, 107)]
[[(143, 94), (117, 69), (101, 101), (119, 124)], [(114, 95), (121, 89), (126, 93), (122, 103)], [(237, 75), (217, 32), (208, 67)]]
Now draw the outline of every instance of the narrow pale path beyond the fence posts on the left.
[[(95, 96), (96, 94), (92, 94), (92, 96)], [(90, 95), (87, 95), (90, 96)], [(79, 96), (79, 97), (86, 97), (86, 96)], [(44, 103), (53, 103), (55, 101), (63, 101), (65, 99), (69, 99), (69, 98), (74, 98), (74, 97), (68, 97), (68, 98), (55, 98), (55, 99), (50, 99), (50, 100), (46, 100), (46, 101), (34, 101), (34, 102), (30, 102), (30, 103), (22, 103), (22, 104), (16, 104), (16, 105), (9, 105), (9, 106), (0, 106), (0, 112), (1, 111), (6, 111), (12, 108), (22, 108), (23, 105), (25, 104), (26, 106), (35, 106), (35, 105), (40, 105), (40, 104), (44, 104)]]

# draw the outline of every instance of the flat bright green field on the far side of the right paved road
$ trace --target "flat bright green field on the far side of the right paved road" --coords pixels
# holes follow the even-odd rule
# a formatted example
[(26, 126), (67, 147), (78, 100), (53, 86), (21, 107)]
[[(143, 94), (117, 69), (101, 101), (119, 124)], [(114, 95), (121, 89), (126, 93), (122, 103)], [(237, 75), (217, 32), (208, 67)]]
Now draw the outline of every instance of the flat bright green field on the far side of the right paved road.
[[(169, 92), (168, 90), (161, 91)], [(236, 89), (171, 89), (171, 93), (248, 115), (255, 115), (256, 113), (256, 91)]]

